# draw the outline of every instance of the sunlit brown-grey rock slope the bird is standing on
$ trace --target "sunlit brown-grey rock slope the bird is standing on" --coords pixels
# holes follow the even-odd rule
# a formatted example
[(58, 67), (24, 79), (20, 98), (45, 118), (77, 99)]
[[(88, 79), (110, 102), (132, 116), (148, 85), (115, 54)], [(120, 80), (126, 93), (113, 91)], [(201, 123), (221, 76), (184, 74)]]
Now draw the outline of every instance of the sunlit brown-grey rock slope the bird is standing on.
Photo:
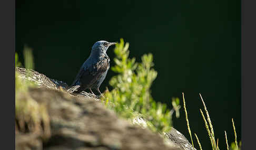
[(16, 68), (16, 72), (20, 79), (38, 85), (28, 94), (46, 106), (51, 126), (46, 140), (41, 132), (16, 131), (16, 149), (192, 149), (174, 128), (163, 138), (139, 126), (145, 122), (142, 118), (134, 123), (120, 119), (89, 93), (71, 95), (65, 92), (68, 85), (62, 81), (24, 68)]

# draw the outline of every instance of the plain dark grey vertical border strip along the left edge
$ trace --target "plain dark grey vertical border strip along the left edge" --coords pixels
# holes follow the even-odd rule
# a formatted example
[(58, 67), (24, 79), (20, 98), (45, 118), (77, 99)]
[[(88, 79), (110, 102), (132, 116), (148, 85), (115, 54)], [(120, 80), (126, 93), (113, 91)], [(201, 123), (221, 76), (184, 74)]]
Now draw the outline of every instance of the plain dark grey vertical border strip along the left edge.
[(0, 18), (1, 149), (15, 149), (15, 0), (0, 1)]

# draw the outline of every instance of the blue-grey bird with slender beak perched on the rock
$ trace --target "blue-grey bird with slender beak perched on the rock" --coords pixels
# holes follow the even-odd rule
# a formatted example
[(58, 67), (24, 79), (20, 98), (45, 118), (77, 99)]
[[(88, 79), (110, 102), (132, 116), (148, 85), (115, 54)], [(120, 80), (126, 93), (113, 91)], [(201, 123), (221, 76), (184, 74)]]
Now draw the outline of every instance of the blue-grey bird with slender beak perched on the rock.
[(105, 40), (95, 42), (90, 56), (81, 66), (75, 80), (71, 84), (71, 88), (67, 92), (81, 93), (86, 89), (90, 89), (92, 94), (96, 96), (92, 91), (92, 89), (96, 89), (102, 95), (99, 88), (106, 78), (107, 71), (110, 69), (110, 58), (107, 56), (106, 51), (115, 44), (116, 42), (107, 42)]

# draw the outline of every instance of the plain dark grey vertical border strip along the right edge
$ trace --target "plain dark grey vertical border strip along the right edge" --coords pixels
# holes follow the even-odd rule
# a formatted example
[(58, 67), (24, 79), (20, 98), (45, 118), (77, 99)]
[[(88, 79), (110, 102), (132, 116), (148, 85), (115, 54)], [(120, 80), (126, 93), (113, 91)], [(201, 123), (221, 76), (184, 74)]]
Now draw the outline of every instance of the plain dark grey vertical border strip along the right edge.
[(241, 0), (241, 141), (242, 149), (255, 149), (256, 1)]

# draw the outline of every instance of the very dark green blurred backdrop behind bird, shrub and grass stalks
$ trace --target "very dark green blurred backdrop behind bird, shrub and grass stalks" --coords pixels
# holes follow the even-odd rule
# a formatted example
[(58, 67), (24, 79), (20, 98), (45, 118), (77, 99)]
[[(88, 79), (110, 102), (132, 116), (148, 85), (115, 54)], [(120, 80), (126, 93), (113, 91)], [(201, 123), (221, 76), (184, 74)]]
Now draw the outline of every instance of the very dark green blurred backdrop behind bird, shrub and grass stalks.
[[(71, 84), (97, 40), (124, 38), (130, 56), (153, 53), (158, 72), (156, 101), (171, 105), (185, 93), (192, 132), (210, 148), (199, 112), (202, 94), (215, 137), (234, 141), (231, 118), (241, 138), (240, 1), (17, 1), (16, 51), (34, 49), (35, 70)], [(107, 51), (113, 63), (113, 47)], [(110, 71), (101, 86), (109, 86)], [(185, 116), (174, 127), (188, 139)], [(195, 139), (195, 138), (194, 138)], [(198, 148), (196, 141), (195, 146)], [(199, 149), (199, 148), (198, 148)]]

